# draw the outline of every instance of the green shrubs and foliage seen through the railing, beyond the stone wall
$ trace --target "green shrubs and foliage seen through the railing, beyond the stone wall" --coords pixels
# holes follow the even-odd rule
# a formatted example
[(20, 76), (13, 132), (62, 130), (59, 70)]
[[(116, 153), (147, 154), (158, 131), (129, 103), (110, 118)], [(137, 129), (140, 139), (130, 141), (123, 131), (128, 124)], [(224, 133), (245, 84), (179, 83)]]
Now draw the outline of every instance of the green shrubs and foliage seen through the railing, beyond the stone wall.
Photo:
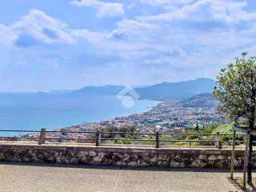
[[(188, 129), (186, 134), (192, 135), (183, 135), (183, 134), (160, 134), (160, 140), (172, 140), (174, 142), (162, 142), (162, 145), (165, 146), (214, 146), (215, 142), (193, 142), (194, 140), (203, 140), (203, 141), (215, 141), (216, 133), (220, 134), (230, 134), (226, 136), (221, 136), (222, 141), (232, 141), (233, 140), (233, 130), (231, 129), (232, 125), (218, 125), (214, 124), (210, 127), (207, 127), (202, 130)], [(109, 127), (104, 131), (115, 131), (115, 132), (132, 132), (130, 130), (136, 130), (136, 127)], [(214, 135), (193, 135), (193, 134), (214, 134)], [(139, 135), (139, 134), (102, 134), (102, 138), (114, 138), (115, 144), (138, 144), (138, 145), (153, 145), (155, 144), (155, 136), (150, 135)], [(130, 139), (152, 139), (153, 141), (130, 141)], [(189, 140), (191, 142), (179, 142), (179, 140)], [(236, 140), (243, 141), (243, 136), (237, 136)], [(109, 142), (108, 142), (109, 143)], [(112, 142), (113, 143), (113, 142)], [(229, 146), (231, 143), (223, 142), (223, 146)]]

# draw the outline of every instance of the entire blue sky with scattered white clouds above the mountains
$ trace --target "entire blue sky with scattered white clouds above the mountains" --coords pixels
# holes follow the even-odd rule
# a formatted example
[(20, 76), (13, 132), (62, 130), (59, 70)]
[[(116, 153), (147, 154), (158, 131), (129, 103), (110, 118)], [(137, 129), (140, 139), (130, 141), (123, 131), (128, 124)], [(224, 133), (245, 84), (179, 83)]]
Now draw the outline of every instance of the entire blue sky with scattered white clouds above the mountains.
[(215, 78), (255, 31), (254, 0), (2, 1), (0, 91)]

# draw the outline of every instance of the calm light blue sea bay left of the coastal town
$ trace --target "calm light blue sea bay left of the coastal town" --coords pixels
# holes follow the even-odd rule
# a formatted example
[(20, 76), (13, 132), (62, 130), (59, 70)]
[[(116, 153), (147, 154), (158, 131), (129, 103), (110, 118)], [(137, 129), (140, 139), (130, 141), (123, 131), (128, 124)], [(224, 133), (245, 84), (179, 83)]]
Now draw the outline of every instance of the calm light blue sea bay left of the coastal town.
[(0, 130), (54, 130), (141, 113), (157, 103), (139, 100), (127, 109), (112, 95), (0, 94)]

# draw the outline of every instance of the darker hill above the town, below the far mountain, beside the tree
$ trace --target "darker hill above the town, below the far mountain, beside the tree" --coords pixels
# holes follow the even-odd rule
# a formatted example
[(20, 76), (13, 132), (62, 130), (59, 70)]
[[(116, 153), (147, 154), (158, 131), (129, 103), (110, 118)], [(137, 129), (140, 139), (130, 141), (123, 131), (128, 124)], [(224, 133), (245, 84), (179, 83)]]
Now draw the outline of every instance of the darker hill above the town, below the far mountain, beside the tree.
[(180, 102), (182, 106), (186, 107), (214, 107), (217, 106), (217, 102), (214, 100), (214, 94), (198, 94), (192, 98), (187, 98)]

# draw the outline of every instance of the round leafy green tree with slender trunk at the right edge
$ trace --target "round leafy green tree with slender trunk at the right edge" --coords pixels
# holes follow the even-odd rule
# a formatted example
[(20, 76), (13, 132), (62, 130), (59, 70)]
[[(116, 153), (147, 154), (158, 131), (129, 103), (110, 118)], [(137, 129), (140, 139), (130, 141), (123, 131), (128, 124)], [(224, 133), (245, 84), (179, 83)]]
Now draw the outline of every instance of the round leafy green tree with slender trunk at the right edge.
[[(250, 130), (255, 129), (256, 115), (256, 59), (246, 58), (247, 53), (242, 53), (241, 58), (235, 58), (222, 69), (217, 76), (214, 96), (218, 100), (218, 110), (224, 117), (232, 122), (243, 122)], [(252, 150), (253, 137), (249, 137), (247, 182), (252, 180)]]

